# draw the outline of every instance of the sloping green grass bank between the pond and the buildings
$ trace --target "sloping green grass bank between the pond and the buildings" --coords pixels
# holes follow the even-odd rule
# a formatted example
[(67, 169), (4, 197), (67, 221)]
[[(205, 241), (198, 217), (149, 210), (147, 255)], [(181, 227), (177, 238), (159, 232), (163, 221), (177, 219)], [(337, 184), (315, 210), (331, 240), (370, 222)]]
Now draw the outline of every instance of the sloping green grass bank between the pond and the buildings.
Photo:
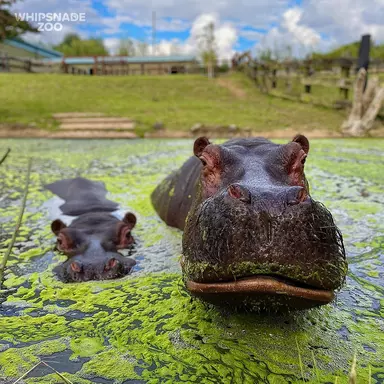
[(0, 74), (0, 122), (52, 126), (57, 112), (104, 112), (131, 117), (138, 129), (161, 121), (170, 130), (195, 123), (236, 124), (255, 131), (294, 128), (336, 130), (343, 112), (263, 95), (242, 74), (225, 77), (243, 90), (238, 97), (220, 79), (188, 76), (71, 76)]

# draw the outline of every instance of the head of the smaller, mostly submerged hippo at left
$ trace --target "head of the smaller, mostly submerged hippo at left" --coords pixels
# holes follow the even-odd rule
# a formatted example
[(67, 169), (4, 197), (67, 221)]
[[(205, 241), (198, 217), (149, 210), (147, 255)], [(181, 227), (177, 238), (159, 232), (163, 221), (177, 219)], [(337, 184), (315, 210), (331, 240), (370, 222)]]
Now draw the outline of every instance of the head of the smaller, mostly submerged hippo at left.
[(132, 213), (122, 221), (106, 213), (87, 213), (68, 227), (61, 220), (53, 221), (56, 248), (68, 257), (55, 272), (65, 282), (109, 280), (129, 274), (136, 262), (118, 250), (133, 245), (135, 224)]

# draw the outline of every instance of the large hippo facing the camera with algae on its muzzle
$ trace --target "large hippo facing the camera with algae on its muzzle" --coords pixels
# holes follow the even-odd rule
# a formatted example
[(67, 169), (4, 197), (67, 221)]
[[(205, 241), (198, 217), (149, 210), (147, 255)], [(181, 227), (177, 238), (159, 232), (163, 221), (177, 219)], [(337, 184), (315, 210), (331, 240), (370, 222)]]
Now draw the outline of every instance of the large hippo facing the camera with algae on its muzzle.
[(309, 141), (194, 142), (194, 156), (152, 192), (160, 218), (183, 230), (187, 290), (250, 311), (330, 303), (346, 277), (343, 238), (309, 191)]

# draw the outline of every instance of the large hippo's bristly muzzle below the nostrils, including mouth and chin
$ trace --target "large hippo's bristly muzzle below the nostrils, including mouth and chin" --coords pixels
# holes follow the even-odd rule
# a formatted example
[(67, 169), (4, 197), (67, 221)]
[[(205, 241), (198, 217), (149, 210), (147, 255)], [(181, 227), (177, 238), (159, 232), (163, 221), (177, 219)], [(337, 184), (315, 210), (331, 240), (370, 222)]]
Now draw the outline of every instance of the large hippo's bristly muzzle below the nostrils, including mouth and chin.
[(182, 269), (188, 290), (215, 304), (308, 308), (333, 300), (347, 264), (322, 204), (260, 210), (222, 193), (187, 220)]

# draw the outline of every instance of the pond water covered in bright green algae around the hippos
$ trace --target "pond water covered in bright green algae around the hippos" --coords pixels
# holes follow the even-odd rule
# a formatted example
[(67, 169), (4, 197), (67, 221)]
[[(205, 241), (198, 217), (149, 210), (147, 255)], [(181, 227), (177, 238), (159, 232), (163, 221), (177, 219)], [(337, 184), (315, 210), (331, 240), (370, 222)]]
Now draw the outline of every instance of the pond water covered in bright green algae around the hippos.
[[(181, 232), (156, 216), (149, 195), (192, 152), (191, 140), (0, 140), (0, 255), (10, 242), (33, 158), (23, 224), (0, 296), (0, 383), (47, 362), (85, 383), (384, 382), (384, 140), (313, 140), (312, 196), (343, 232), (349, 274), (337, 300), (286, 315), (231, 314), (193, 300), (181, 281)], [(0, 153), (0, 155), (1, 155)], [(42, 185), (104, 181), (138, 225), (132, 275), (64, 284), (52, 269), (52, 194)], [(63, 382), (40, 365), (24, 383)]]

